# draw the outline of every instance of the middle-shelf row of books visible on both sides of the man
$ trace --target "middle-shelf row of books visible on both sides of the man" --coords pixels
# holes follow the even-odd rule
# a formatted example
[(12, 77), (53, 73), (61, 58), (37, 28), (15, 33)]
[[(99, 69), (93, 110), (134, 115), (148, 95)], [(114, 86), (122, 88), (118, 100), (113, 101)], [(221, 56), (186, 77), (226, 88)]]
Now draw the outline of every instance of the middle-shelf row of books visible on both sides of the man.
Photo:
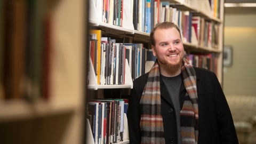
[[(143, 44), (116, 43), (110, 37), (100, 37), (98, 44), (97, 36), (91, 37), (89, 53), (94, 68), (98, 85), (122, 85), (125, 84), (125, 60), (130, 68), (132, 80), (147, 73), (154, 65), (156, 57), (149, 49), (145, 49)], [(99, 56), (98, 56), (99, 55)], [(209, 59), (207, 65), (201, 58)], [(192, 59), (193, 58), (193, 59)], [(214, 71), (217, 74), (217, 58), (214, 54), (201, 54), (188, 57), (195, 67), (203, 67)], [(193, 61), (194, 60), (194, 61)], [(199, 63), (198, 63), (199, 62)], [(210, 65), (211, 64), (211, 65)]]

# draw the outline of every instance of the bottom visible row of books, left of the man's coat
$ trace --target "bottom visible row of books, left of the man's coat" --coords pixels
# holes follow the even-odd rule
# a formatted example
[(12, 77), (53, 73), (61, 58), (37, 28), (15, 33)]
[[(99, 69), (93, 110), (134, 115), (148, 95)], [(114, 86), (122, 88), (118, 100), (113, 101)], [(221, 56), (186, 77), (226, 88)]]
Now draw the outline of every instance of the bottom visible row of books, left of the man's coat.
[(87, 102), (86, 118), (89, 119), (95, 144), (123, 141), (124, 114), (127, 115), (128, 99), (97, 99)]

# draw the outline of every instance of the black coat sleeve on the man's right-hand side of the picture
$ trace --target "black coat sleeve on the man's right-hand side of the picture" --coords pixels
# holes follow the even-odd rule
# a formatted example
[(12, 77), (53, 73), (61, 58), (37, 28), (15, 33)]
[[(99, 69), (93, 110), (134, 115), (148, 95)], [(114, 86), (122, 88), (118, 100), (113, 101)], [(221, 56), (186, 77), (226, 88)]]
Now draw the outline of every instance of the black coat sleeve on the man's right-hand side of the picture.
[(233, 118), (217, 76), (214, 74), (214, 95), (220, 143), (237, 143), (238, 139)]

